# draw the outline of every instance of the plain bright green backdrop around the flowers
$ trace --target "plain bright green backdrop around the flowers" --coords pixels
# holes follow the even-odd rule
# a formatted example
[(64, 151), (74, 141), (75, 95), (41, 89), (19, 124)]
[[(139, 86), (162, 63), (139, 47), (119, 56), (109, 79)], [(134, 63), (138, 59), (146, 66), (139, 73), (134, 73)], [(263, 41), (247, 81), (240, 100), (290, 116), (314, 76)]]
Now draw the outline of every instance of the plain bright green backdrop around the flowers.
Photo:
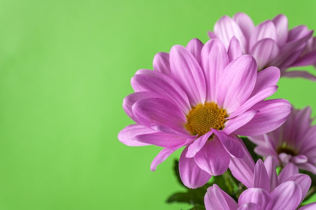
[[(156, 52), (207, 30), (223, 15), (258, 24), (283, 13), (316, 29), (311, 1), (0, 1), (0, 209), (187, 209), (180, 151), (151, 172), (158, 147), (128, 147), (117, 133), (130, 79)], [(316, 73), (312, 68), (310, 72)], [(316, 109), (316, 83), (281, 79), (274, 98)], [(315, 112), (313, 111), (313, 116)]]

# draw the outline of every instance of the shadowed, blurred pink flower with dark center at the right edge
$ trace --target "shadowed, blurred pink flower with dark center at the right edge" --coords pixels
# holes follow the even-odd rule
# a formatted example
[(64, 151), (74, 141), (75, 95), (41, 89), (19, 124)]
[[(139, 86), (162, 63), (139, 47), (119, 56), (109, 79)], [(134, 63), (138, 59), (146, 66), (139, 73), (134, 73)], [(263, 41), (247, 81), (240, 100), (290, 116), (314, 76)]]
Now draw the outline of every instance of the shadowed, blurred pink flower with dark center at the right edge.
[(311, 125), (311, 109), (294, 109), (283, 125), (274, 131), (249, 136), (260, 156), (274, 157), (276, 164), (294, 163), (298, 168), (316, 174), (316, 125)]

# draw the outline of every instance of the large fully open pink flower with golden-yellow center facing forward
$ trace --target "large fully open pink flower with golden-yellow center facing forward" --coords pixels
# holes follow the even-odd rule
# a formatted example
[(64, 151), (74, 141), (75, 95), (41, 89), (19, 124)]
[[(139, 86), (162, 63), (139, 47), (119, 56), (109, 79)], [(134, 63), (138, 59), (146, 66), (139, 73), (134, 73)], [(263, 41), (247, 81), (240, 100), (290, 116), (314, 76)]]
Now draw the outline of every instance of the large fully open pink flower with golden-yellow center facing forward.
[(277, 90), (279, 69), (257, 73), (254, 58), (241, 54), (236, 38), (228, 51), (218, 39), (175, 45), (170, 54), (155, 55), (153, 68), (140, 69), (132, 78), (135, 93), (124, 99), (123, 108), (137, 124), (125, 127), (118, 138), (129, 146), (164, 147), (152, 171), (186, 146), (179, 172), (191, 188), (223, 174), (231, 156), (243, 157), (237, 134), (274, 130), (291, 112), (286, 100), (264, 101)]

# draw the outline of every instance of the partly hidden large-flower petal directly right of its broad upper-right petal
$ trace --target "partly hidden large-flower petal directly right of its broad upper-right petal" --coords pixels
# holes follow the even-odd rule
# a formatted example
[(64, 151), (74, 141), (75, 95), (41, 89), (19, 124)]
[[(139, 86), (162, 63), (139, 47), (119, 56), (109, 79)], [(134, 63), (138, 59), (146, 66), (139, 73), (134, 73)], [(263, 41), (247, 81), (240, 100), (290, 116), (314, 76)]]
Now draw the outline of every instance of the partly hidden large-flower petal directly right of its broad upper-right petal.
[(275, 66), (270, 66), (258, 72), (257, 80), (255, 82), (253, 91), (250, 97), (259, 93), (261, 90), (264, 90), (270, 86), (275, 86), (280, 79), (280, 69)]

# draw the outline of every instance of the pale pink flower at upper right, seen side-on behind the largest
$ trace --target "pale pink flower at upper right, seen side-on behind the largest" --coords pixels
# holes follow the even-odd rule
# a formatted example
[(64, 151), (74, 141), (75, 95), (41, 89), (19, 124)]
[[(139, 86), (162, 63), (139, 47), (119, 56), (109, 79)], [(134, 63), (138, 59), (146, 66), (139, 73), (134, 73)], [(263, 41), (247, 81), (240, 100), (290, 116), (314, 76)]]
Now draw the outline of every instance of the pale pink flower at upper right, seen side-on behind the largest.
[(268, 66), (277, 66), (281, 76), (316, 81), (316, 77), (308, 72), (287, 71), (289, 67), (316, 64), (316, 44), (315, 38), (311, 37), (312, 33), (304, 25), (288, 30), (288, 20), (284, 15), (254, 26), (249, 16), (237, 13), (233, 18), (223, 16), (208, 35), (222, 40), (226, 48), (235, 36), (240, 41), (243, 54), (252, 55), (256, 59), (258, 71)]

